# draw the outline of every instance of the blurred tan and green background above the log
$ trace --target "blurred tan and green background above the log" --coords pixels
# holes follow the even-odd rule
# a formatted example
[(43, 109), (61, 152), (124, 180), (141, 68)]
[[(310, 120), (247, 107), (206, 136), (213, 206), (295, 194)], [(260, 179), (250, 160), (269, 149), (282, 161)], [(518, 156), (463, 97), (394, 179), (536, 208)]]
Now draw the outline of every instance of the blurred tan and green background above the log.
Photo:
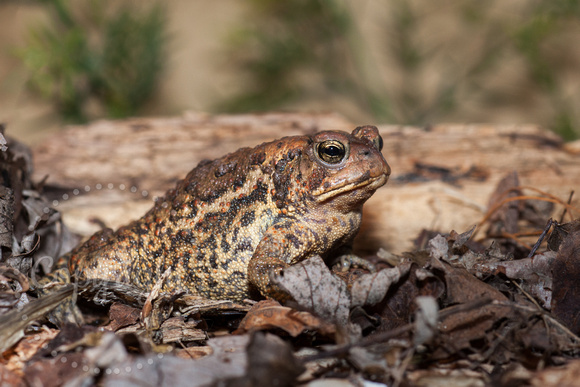
[(0, 122), (336, 111), (580, 136), (580, 1), (0, 0)]

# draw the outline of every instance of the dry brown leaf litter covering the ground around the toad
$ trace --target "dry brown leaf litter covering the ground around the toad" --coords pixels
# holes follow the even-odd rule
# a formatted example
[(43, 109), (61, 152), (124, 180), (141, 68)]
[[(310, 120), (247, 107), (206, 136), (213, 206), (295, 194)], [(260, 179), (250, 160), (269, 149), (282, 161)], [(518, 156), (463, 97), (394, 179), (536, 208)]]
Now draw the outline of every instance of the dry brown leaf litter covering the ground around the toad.
[[(275, 280), (293, 298), (285, 305), (106, 281), (37, 298), (31, 289), (51, 267), (44, 257), (76, 240), (42, 184), (30, 181), (25, 148), (7, 144), (2, 385), (580, 385), (580, 211), (522, 187), (515, 172), (498, 184), (488, 214), (474, 219), (477, 228), (409, 235), (416, 251), (379, 251), (368, 257), (370, 272), (337, 273), (320, 257), (284, 270)], [(417, 171), (451, 182), (459, 173)], [(565, 215), (546, 227), (555, 208)], [(71, 297), (85, 324), (57, 329), (47, 315)]]

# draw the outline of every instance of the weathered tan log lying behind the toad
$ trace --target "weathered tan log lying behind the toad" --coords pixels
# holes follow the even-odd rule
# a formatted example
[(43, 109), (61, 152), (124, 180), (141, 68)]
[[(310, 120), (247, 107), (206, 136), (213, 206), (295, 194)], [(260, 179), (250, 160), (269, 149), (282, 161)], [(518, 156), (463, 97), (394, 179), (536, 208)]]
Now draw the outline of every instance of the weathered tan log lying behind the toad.
[[(99, 121), (67, 129), (34, 149), (35, 176), (49, 175), (48, 183), (82, 193), (69, 191), (68, 199), (58, 198), (58, 208), (75, 231), (90, 234), (98, 228), (91, 217), (111, 227), (139, 217), (151, 196), (162, 195), (202, 159), (281, 136), (355, 126), (336, 114), (291, 113)], [(366, 204), (359, 238), (366, 249), (410, 249), (423, 228), (466, 230), (483, 218), (495, 185), (512, 170), (522, 185), (562, 200), (572, 190), (580, 195), (579, 144), (563, 144), (533, 125), (379, 129), (393, 174)], [(433, 173), (413, 180), (417, 163), (448, 168), (451, 173), (441, 176), (455, 180), (445, 182)], [(143, 191), (150, 194), (145, 199)], [(576, 198), (572, 204), (579, 207)]]

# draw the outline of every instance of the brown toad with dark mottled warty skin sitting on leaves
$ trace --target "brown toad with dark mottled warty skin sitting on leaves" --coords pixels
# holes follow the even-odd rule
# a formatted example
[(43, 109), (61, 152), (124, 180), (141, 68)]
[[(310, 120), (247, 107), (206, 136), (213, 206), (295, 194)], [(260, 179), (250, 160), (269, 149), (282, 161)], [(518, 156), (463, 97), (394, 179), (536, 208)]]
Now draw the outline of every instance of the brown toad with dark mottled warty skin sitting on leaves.
[(165, 290), (284, 298), (271, 272), (350, 248), (363, 203), (390, 174), (380, 148), (377, 129), (364, 126), (352, 134), (285, 137), (201, 162), (143, 218), (74, 250), (69, 270), (149, 290), (171, 268)]

